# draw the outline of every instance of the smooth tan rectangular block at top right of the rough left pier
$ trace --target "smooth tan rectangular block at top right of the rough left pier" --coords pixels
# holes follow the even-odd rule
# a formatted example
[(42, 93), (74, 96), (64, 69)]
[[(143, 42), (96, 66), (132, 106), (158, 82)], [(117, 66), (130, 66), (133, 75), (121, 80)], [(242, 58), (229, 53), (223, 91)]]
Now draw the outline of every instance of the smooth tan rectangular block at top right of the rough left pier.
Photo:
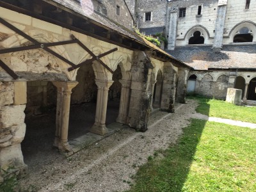
[(22, 105), (27, 103), (27, 82), (14, 82), (14, 104)]

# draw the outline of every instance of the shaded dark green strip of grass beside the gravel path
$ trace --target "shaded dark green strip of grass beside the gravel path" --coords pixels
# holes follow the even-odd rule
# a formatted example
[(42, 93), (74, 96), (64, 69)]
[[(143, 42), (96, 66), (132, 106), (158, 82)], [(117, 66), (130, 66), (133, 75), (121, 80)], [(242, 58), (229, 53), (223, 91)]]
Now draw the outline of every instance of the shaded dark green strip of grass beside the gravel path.
[[(204, 102), (204, 100), (202, 100)], [(205, 112), (209, 111), (207, 102)], [(196, 161), (196, 147), (207, 121), (191, 119), (191, 124), (183, 129), (183, 134), (176, 144), (167, 150), (159, 150), (148, 162), (140, 167), (134, 176), (135, 184), (129, 191), (184, 191), (190, 166)], [(189, 191), (189, 189), (188, 189)]]

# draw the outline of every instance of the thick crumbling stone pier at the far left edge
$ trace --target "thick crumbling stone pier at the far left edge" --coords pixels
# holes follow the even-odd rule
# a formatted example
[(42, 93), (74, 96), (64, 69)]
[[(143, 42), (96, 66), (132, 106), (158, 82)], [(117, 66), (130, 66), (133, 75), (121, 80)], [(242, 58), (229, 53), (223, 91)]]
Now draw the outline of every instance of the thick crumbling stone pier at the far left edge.
[(26, 174), (20, 143), (24, 140), (27, 83), (0, 82), (0, 185), (4, 179)]

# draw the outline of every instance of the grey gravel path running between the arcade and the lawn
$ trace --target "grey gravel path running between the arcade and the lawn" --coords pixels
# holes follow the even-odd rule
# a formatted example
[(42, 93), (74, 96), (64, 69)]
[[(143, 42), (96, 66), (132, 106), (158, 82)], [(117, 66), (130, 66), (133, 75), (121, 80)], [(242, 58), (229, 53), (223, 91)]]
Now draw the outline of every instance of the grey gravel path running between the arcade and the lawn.
[[(150, 116), (148, 131), (135, 132), (125, 127), (108, 138), (77, 152), (67, 159), (56, 153), (42, 157), (29, 167), (29, 175), (20, 180), (23, 190), (36, 191), (124, 191), (129, 189), (138, 166), (147, 162), (155, 150), (175, 143), (189, 118), (212, 120), (195, 113), (197, 103), (188, 100), (175, 113), (157, 112)], [(226, 121), (226, 120), (225, 120)], [(244, 124), (244, 122), (243, 122)], [(237, 125), (237, 124), (236, 124)]]

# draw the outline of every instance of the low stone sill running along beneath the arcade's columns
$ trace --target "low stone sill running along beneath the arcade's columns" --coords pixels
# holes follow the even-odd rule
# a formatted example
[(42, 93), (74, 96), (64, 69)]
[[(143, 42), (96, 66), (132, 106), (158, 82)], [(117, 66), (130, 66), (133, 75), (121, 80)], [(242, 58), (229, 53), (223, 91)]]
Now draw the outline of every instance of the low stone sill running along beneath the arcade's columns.
[(68, 143), (72, 147), (73, 152), (68, 152), (68, 153), (61, 152), (61, 154), (63, 154), (66, 157), (70, 157), (73, 154), (76, 154), (77, 152), (79, 152), (79, 150), (82, 150), (83, 148), (86, 148), (86, 147), (92, 145), (93, 143), (96, 143), (97, 141), (107, 138), (111, 134), (114, 134), (115, 132), (120, 131), (121, 129), (123, 129), (126, 126), (129, 127), (128, 125), (114, 122), (114, 123), (106, 126), (108, 129), (108, 132), (106, 134), (104, 134), (104, 136), (94, 134), (92, 132), (88, 132), (82, 136), (79, 136), (76, 139), (69, 140)]

